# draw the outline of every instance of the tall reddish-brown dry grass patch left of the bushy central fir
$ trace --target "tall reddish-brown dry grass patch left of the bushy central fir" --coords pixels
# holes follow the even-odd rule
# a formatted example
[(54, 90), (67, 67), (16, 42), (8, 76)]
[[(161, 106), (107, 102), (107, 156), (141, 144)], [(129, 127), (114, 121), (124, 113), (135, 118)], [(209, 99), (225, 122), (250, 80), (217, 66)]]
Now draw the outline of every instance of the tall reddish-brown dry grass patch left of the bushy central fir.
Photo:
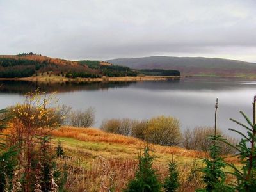
[[(62, 159), (60, 160), (63, 161)], [(74, 157), (66, 159), (68, 164), (67, 191), (107, 191), (115, 189), (122, 191), (127, 181), (134, 177), (136, 161), (131, 159), (106, 159), (97, 157), (90, 164), (90, 168), (84, 168), (79, 163), (83, 160)], [(77, 162), (74, 164), (73, 162)], [(112, 191), (112, 190), (111, 190)]]

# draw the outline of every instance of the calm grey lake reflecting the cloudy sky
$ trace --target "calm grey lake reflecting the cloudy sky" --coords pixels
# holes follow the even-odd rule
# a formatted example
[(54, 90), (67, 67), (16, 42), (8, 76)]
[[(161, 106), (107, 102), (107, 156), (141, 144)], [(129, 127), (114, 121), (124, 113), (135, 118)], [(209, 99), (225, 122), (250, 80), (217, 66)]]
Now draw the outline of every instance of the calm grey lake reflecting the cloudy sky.
[(240, 110), (252, 118), (256, 81), (241, 79), (191, 78), (130, 83), (33, 83), (1, 81), (0, 109), (22, 102), (23, 94), (39, 87), (55, 92), (59, 104), (73, 109), (95, 108), (96, 123), (108, 118), (148, 119), (170, 115), (179, 118), (182, 129), (214, 125), (214, 104), (219, 99), (218, 127), (234, 136), (230, 122), (244, 122)]

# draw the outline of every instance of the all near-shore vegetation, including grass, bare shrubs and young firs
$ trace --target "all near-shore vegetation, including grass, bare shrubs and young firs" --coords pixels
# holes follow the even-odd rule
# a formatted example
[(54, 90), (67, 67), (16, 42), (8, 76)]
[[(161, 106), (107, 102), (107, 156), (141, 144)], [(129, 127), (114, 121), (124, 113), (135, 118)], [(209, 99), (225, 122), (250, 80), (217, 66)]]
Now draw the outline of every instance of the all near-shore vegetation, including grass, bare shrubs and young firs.
[[(69, 109), (55, 106), (52, 95), (28, 93), (23, 104), (0, 111), (0, 191), (253, 191), (255, 102), (253, 122), (242, 112), (248, 125), (232, 119), (248, 130), (232, 129), (243, 136), (239, 144), (219, 136), (215, 124), (209, 150), (200, 152), (175, 146), (182, 138), (175, 118), (112, 120), (103, 122), (104, 131), (80, 128), (93, 125), (88, 108), (72, 112), (76, 128), (60, 127)], [(143, 138), (131, 137), (134, 130)], [(220, 141), (237, 156), (223, 156)]]

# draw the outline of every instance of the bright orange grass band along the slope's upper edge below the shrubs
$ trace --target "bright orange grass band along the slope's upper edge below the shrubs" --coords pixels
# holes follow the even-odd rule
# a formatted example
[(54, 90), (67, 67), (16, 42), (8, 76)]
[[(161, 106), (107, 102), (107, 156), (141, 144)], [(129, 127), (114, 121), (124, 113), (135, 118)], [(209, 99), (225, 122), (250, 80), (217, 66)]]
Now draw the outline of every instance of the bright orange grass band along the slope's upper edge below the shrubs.
[[(122, 136), (118, 134), (111, 134), (101, 131), (100, 129), (93, 128), (75, 128), (75, 127), (60, 127), (52, 131), (52, 136), (60, 138), (74, 138), (79, 141), (86, 142), (104, 142), (104, 143), (115, 143), (125, 145), (126, 148), (134, 149), (134, 152), (139, 148), (143, 148), (145, 143), (137, 138)], [(173, 154), (179, 157), (190, 157), (190, 158), (204, 158), (207, 157), (207, 153), (196, 150), (187, 150), (181, 147), (166, 147), (160, 145), (151, 145), (151, 149), (157, 152), (159, 156), (166, 156)], [(227, 157), (229, 163), (238, 163), (237, 157)]]

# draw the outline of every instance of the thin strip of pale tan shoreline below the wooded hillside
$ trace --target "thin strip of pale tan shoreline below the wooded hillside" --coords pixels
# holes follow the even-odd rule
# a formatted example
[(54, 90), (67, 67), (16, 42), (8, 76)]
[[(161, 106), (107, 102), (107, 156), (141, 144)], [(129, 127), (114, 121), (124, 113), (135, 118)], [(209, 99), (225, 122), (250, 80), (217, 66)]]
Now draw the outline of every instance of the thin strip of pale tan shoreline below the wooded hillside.
[(137, 77), (102, 77), (102, 78), (67, 78), (61, 76), (33, 76), (24, 78), (0, 78), (1, 81), (37, 81), (37, 82), (113, 82), (113, 81), (166, 81), (179, 79), (179, 76), (137, 76)]

